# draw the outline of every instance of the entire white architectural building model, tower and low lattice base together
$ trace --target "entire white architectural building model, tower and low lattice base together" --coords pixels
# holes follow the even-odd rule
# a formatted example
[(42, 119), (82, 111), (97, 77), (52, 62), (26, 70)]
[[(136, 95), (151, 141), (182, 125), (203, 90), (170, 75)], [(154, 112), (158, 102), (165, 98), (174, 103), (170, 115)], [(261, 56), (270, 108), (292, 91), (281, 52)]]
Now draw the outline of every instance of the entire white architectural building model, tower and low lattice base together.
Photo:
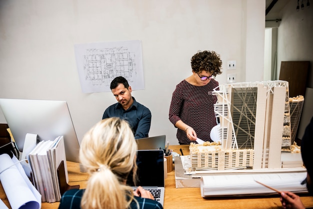
[(291, 146), (288, 82), (226, 83), (218, 88), (212, 94), (217, 95), (221, 145), (191, 143), (191, 166), (281, 168), (281, 151)]

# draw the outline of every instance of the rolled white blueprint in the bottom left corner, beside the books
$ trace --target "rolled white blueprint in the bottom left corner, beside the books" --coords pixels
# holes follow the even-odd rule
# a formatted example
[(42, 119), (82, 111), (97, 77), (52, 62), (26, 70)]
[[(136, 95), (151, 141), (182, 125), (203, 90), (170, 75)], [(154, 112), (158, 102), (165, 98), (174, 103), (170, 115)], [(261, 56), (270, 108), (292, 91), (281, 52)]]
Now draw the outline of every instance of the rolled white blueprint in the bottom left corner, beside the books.
[(31, 184), (17, 158), (1, 154), (0, 162), (0, 181), (11, 208), (39, 209), (41, 195)]

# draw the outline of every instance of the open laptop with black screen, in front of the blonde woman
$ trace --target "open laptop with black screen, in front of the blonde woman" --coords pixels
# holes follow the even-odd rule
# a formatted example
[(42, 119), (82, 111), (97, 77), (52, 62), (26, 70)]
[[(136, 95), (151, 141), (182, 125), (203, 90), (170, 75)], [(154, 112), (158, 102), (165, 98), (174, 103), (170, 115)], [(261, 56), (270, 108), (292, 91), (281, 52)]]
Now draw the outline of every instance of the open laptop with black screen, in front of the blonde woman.
[(129, 173), (127, 185), (134, 190), (137, 186), (142, 186), (149, 190), (154, 200), (164, 203), (164, 151), (163, 149), (137, 150), (137, 178), (138, 181), (132, 181), (132, 173)]

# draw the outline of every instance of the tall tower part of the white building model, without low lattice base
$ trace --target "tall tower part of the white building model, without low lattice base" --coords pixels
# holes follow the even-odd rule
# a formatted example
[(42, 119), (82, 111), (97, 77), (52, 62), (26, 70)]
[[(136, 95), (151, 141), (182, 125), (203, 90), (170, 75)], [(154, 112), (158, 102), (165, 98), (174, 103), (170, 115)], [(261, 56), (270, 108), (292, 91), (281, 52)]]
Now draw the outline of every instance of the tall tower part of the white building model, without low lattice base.
[(222, 149), (253, 149), (253, 169), (281, 168), (285, 117), (290, 121), (288, 82), (227, 83), (218, 88), (212, 93), (217, 95)]

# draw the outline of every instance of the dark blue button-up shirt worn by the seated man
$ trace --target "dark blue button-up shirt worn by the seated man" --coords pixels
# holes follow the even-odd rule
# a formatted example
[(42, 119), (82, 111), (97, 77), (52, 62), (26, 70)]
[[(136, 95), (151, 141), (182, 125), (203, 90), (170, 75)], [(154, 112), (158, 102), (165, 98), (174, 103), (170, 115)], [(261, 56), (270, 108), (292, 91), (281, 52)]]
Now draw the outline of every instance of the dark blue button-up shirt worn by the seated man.
[(118, 102), (110, 105), (105, 109), (102, 119), (119, 117), (129, 123), (135, 138), (148, 137), (151, 125), (151, 112), (147, 107), (138, 103), (134, 97), (132, 99), (132, 105), (126, 110)]

